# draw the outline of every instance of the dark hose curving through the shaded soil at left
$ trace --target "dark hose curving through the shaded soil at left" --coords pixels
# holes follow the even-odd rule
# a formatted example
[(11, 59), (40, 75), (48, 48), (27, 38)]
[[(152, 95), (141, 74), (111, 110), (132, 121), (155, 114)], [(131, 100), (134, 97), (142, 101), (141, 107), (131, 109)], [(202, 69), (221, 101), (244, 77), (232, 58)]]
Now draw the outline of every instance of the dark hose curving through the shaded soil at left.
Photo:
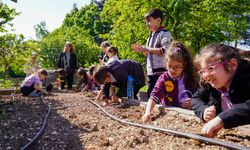
[[(46, 104), (46, 103), (44, 102), (43, 96), (41, 97), (41, 99), (42, 99), (43, 103)], [(51, 112), (51, 108), (50, 108), (49, 105), (48, 105), (48, 107), (49, 107), (49, 109), (48, 109), (48, 112), (47, 112), (47, 114), (46, 114), (46, 116), (45, 116), (45, 118), (44, 118), (43, 125), (42, 125), (41, 129), (40, 129), (39, 132), (36, 134), (36, 136), (33, 137), (33, 138), (30, 140), (29, 143), (25, 144), (25, 145), (21, 148), (21, 150), (26, 150), (26, 149), (28, 149), (32, 144), (34, 144), (34, 143), (36, 142), (36, 140), (39, 138), (39, 136), (42, 135), (42, 132), (43, 132), (43, 130), (45, 129), (45, 126), (46, 126), (46, 123), (47, 123), (49, 114), (50, 114), (50, 112)]]

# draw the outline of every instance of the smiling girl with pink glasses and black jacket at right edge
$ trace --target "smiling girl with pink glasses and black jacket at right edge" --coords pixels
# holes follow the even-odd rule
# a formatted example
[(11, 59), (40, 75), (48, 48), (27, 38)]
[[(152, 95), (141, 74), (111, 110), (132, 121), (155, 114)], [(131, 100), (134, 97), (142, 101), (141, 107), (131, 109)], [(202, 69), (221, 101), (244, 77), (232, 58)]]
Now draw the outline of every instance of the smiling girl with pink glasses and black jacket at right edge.
[(204, 47), (195, 57), (201, 87), (192, 98), (195, 114), (207, 122), (202, 134), (250, 124), (250, 62), (224, 44)]

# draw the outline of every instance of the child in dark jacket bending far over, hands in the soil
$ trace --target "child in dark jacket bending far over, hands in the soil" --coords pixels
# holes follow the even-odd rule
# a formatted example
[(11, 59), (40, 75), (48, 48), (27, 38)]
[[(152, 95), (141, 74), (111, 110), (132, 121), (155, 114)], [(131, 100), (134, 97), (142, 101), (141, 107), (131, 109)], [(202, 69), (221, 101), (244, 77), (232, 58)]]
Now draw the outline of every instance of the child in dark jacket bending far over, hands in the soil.
[[(117, 87), (117, 92), (112, 95), (112, 101), (117, 103), (122, 97), (127, 96), (128, 75), (133, 76), (134, 95), (145, 85), (145, 76), (141, 64), (132, 60), (114, 60), (106, 66), (101, 66), (94, 73), (95, 80), (99, 84), (111, 83)], [(103, 105), (108, 105), (108, 99), (104, 99)]]

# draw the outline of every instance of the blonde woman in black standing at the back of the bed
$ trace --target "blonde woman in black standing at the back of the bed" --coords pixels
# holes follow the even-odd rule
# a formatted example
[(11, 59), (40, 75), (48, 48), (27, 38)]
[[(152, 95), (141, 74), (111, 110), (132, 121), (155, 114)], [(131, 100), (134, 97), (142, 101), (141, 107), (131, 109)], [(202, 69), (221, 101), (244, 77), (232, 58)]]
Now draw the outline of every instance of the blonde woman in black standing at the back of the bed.
[[(73, 76), (77, 69), (77, 58), (75, 47), (71, 42), (66, 42), (63, 52), (60, 53), (57, 68), (65, 70), (68, 89), (72, 89)], [(65, 82), (61, 84), (61, 89), (64, 89), (64, 86)]]

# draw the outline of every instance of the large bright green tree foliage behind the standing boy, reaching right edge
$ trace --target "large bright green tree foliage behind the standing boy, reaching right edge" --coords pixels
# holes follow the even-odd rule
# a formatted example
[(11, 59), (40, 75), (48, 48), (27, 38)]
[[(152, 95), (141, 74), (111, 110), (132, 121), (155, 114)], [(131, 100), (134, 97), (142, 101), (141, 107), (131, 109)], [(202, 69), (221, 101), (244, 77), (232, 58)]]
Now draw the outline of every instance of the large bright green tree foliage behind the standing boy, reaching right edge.
[[(249, 0), (108, 0), (102, 18), (112, 22), (108, 35), (122, 57), (134, 59), (131, 43), (146, 43), (148, 31), (143, 15), (152, 8), (164, 12), (163, 25), (175, 40), (194, 51), (212, 42), (239, 40), (246, 32)], [(137, 58), (139, 59), (139, 58)]]

